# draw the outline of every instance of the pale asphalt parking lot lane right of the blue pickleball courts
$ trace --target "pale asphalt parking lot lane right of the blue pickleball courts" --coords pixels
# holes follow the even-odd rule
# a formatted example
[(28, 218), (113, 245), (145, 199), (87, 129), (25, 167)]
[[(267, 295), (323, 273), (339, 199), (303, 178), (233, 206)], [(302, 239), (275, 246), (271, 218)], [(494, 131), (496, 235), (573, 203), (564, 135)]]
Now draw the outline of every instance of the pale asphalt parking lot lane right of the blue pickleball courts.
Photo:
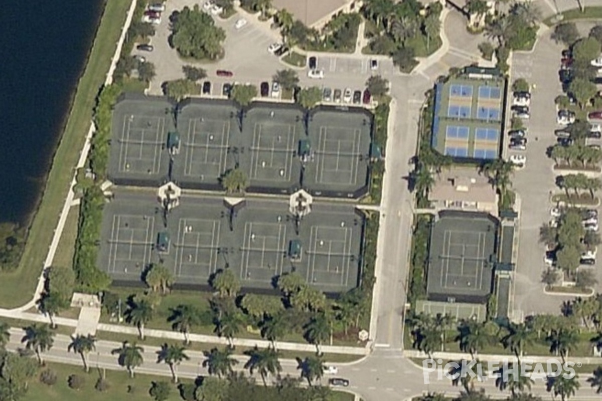
[[(557, 192), (556, 173), (547, 149), (556, 144), (554, 130), (556, 105), (554, 98), (562, 94), (558, 79), (562, 46), (550, 40), (549, 35), (539, 38), (535, 51), (517, 52), (512, 58), (511, 79), (524, 78), (532, 84), (530, 118), (524, 121), (527, 128), (527, 148), (524, 152), (509, 151), (527, 157), (524, 168), (515, 171), (512, 179), (514, 191), (521, 199), (520, 233), (517, 272), (515, 274), (515, 313), (528, 316), (533, 313), (558, 313), (560, 305), (574, 296), (545, 295), (541, 283), (544, 263), (544, 245), (539, 243), (539, 228), (550, 221), (550, 194)], [(600, 265), (598, 262), (597, 266)], [(602, 272), (596, 268), (598, 281)], [(600, 290), (600, 284), (597, 290)]]

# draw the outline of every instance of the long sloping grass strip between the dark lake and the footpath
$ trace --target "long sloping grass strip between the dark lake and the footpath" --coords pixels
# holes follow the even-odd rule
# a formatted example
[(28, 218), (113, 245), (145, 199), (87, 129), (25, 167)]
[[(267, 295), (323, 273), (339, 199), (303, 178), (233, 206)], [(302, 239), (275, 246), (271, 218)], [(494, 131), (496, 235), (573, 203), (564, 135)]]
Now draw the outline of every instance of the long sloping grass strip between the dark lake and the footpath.
[(29, 229), (19, 267), (14, 272), (0, 276), (0, 306), (4, 308), (25, 304), (31, 299), (36, 287), (58, 216), (69, 191), (73, 168), (79, 159), (79, 152), (74, 150), (79, 150), (84, 145), (96, 95), (107, 75), (130, 4), (129, 0), (111, 0), (105, 4), (92, 51), (79, 79), (72, 108), (46, 180), (42, 201)]

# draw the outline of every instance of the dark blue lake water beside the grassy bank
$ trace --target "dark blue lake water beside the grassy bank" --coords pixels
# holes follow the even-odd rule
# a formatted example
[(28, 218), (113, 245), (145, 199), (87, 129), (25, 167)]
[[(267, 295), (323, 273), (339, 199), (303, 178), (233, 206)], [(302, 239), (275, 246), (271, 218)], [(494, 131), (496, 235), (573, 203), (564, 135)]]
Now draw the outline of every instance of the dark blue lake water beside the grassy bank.
[(36, 206), (103, 5), (12, 0), (2, 7), (0, 222), (24, 222)]

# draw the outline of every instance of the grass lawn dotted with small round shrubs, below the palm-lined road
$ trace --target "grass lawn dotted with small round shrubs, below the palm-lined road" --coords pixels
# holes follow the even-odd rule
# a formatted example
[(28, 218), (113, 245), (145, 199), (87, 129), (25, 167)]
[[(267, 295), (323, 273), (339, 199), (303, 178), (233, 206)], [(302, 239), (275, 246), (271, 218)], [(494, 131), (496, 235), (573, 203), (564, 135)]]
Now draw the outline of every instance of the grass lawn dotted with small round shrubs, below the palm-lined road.
[[(128, 373), (119, 370), (107, 370), (106, 379), (110, 385), (109, 389), (104, 393), (96, 391), (94, 385), (101, 376), (101, 372), (95, 368), (90, 369), (90, 373), (86, 374), (81, 367), (75, 365), (64, 365), (56, 363), (47, 363), (48, 368), (54, 370), (57, 374), (57, 383), (54, 386), (42, 384), (37, 378), (31, 379), (29, 390), (25, 396), (28, 400), (86, 400), (86, 401), (150, 401), (149, 389), (153, 381), (167, 381), (170, 379), (166, 376), (150, 376), (136, 374), (134, 379), (130, 379)], [(42, 369), (40, 369), (42, 372)], [(73, 390), (67, 385), (67, 378), (70, 375), (80, 375), (85, 378), (84, 387), (81, 390)], [(183, 379), (182, 382), (192, 382)], [(134, 391), (128, 393), (128, 386), (133, 386)], [(172, 392), (167, 401), (181, 401), (179, 391), (176, 385), (172, 384)]]

